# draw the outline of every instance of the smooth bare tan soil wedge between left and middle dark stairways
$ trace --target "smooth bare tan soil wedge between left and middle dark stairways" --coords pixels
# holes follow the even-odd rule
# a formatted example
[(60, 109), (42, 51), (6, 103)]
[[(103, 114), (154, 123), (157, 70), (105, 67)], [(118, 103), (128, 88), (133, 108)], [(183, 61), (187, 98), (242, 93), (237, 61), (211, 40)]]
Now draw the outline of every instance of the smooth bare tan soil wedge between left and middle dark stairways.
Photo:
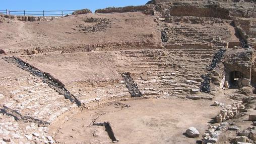
[(23, 59), (64, 84), (121, 79), (116, 68), (117, 58), (109, 52), (28, 56)]

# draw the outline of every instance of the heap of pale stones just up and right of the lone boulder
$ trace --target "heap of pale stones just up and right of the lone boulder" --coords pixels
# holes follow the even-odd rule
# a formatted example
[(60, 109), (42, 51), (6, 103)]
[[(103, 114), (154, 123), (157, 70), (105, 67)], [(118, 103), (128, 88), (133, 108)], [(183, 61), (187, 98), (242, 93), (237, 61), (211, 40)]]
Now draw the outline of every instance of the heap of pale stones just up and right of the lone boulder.
[(242, 105), (242, 101), (234, 102), (232, 105), (223, 106), (220, 110), (220, 114), (215, 117), (216, 122), (223, 122), (233, 118), (240, 109), (244, 109), (245, 106)]

